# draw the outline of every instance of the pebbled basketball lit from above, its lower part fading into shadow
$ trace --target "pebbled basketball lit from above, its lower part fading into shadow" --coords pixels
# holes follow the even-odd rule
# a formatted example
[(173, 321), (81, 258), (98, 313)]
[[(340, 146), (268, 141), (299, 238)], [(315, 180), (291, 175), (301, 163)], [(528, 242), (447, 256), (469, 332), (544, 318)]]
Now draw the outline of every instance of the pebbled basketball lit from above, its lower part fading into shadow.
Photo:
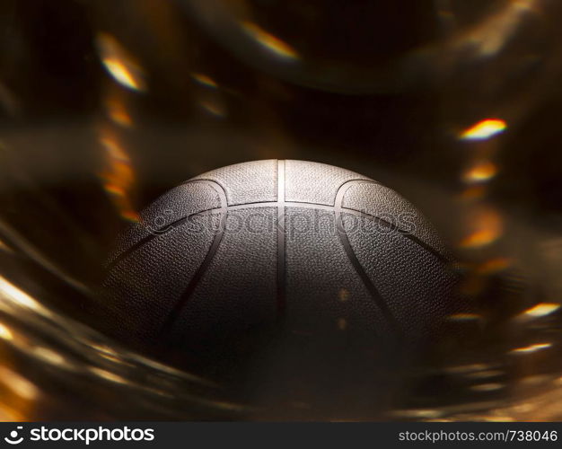
[(393, 190), (267, 160), (207, 172), (146, 207), (101, 290), (129, 340), (204, 353), (280, 325), (326, 348), (345, 340), (345, 352), (438, 333), (463, 308), (458, 280), (433, 226)]

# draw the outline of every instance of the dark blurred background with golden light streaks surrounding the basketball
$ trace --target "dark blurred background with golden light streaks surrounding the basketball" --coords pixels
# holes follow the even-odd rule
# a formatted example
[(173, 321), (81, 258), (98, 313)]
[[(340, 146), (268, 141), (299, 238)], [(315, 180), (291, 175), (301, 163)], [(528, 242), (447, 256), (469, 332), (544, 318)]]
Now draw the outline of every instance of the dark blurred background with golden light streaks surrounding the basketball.
[[(0, 419), (562, 418), (560, 19), (557, 0), (3, 0)], [(366, 416), (234, 401), (92, 318), (140, 209), (267, 158), (396, 189), (478, 305)]]

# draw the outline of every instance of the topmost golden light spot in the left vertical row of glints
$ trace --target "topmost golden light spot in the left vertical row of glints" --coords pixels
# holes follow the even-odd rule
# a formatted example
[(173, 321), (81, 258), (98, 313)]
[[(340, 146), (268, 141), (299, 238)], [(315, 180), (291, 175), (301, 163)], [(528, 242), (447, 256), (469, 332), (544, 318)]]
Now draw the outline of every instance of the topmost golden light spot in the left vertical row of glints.
[(101, 32), (96, 42), (101, 62), (115, 81), (133, 91), (146, 90), (142, 69), (113, 36)]

